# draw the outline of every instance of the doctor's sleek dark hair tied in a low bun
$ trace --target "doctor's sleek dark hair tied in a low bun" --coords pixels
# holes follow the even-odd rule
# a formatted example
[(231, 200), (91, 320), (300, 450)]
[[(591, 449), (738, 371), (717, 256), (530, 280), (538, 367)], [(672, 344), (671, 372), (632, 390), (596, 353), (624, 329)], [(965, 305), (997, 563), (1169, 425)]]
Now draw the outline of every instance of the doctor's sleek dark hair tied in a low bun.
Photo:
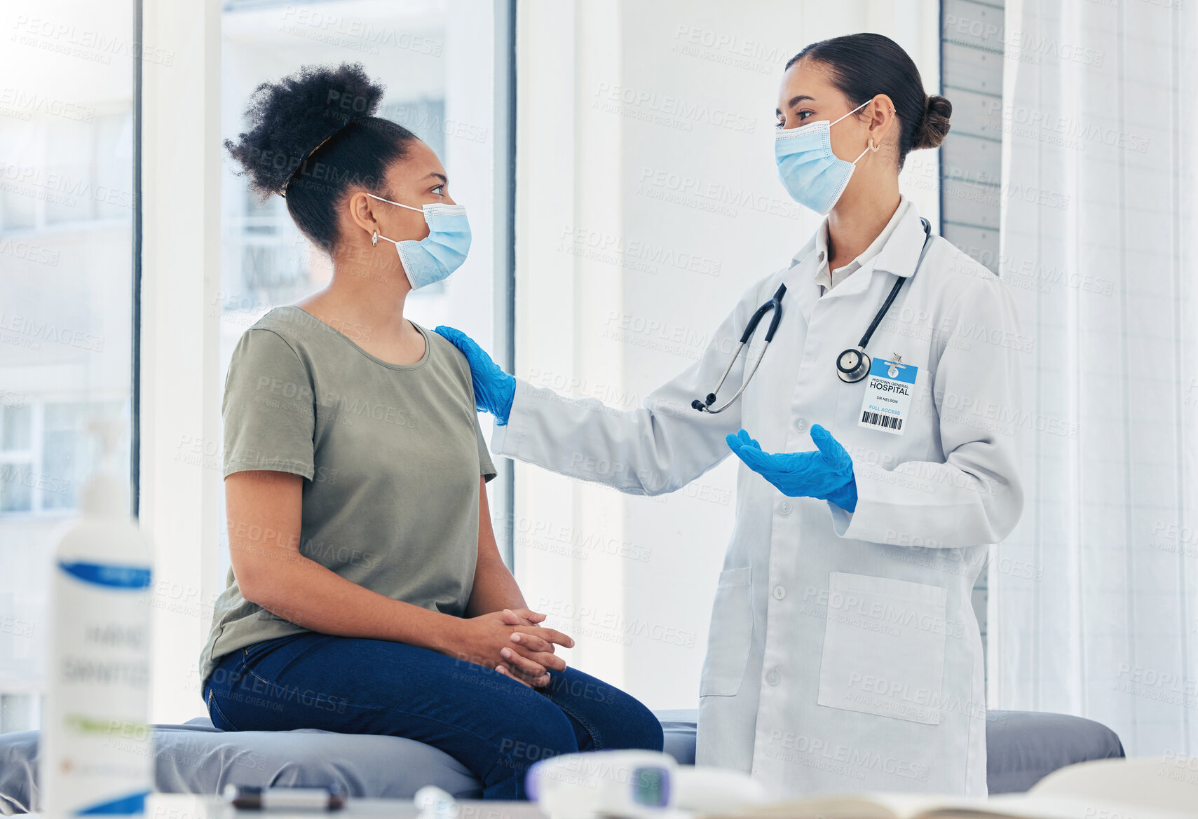
[(898, 116), (898, 170), (912, 148), (937, 147), (949, 133), (952, 103), (924, 93), (919, 68), (898, 43), (879, 34), (855, 34), (811, 43), (791, 57), (789, 68), (803, 59), (828, 67), (833, 85), (861, 105), (879, 93), (890, 97)]

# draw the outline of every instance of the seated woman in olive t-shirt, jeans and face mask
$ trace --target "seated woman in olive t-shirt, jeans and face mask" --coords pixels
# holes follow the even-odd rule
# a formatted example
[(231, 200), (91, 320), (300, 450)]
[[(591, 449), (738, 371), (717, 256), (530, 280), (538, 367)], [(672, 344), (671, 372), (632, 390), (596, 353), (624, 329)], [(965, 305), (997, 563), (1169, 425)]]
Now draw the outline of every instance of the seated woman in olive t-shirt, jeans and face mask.
[(537, 759), (660, 751), (661, 724), (565, 667), (555, 647), (574, 641), (538, 625), (500, 558), (470, 368), (404, 318), (470, 229), (429, 146), (373, 116), (382, 91), (361, 65), (305, 68), (259, 86), (225, 142), (333, 278), (262, 316), (229, 365), (232, 568), (204, 698), (224, 730), (406, 736), (459, 759), (485, 799), (525, 799)]

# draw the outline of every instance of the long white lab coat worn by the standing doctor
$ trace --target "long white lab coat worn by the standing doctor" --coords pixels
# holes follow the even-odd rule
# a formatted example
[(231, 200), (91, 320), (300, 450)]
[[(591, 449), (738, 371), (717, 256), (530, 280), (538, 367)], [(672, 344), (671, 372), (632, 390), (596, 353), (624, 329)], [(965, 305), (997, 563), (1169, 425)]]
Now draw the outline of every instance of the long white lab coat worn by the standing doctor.
[[(915, 267), (914, 205), (860, 269), (821, 296), (815, 239), (749, 287), (702, 357), (617, 412), (519, 382), (491, 449), (625, 492), (674, 491), (728, 457), (742, 426), (772, 453), (815, 449), (821, 424), (853, 457), (849, 514), (789, 498), (740, 465), (700, 682), (696, 764), (751, 772), (775, 795), (986, 794), (984, 655), (970, 606), (990, 544), (1023, 506), (1022, 340), (1005, 285), (933, 236), (867, 352), (919, 368), (906, 429), (859, 426), (865, 381), (841, 382), (896, 277)], [(749, 317), (780, 283), (782, 320), (737, 404), (698, 413)], [(756, 358), (720, 393), (731, 395)], [(679, 545), (682, 547), (682, 545)]]

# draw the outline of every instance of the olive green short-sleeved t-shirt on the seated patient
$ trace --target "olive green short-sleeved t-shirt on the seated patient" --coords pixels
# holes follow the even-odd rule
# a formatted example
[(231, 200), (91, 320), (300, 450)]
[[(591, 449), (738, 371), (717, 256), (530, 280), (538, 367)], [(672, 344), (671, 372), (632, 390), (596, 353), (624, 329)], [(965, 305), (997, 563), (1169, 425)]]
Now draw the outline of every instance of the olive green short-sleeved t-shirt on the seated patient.
[[(292, 305), (262, 316), (229, 363), (224, 475), (303, 475), (301, 556), (394, 600), (464, 617), (478, 557), (478, 479), (494, 478), (495, 466), (470, 365), (415, 326), (424, 357), (391, 364), (353, 341), (364, 340), (361, 327), (343, 333)], [(250, 548), (295, 559), (296, 544), (278, 533), (229, 526)], [(309, 631), (242, 597), (231, 568), (226, 584), (200, 655), (201, 687), (222, 655)]]

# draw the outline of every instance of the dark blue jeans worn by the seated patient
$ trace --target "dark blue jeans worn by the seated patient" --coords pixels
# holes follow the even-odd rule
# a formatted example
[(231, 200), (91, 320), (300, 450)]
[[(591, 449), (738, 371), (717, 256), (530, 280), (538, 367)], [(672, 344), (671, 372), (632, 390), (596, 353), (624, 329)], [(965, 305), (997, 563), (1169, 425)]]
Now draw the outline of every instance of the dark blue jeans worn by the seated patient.
[(629, 694), (575, 668), (550, 677), (530, 688), (406, 643), (309, 631), (224, 655), (204, 700), (222, 730), (322, 728), (425, 742), (474, 774), (483, 799), (527, 799), (525, 775), (538, 759), (661, 750), (661, 723)]

